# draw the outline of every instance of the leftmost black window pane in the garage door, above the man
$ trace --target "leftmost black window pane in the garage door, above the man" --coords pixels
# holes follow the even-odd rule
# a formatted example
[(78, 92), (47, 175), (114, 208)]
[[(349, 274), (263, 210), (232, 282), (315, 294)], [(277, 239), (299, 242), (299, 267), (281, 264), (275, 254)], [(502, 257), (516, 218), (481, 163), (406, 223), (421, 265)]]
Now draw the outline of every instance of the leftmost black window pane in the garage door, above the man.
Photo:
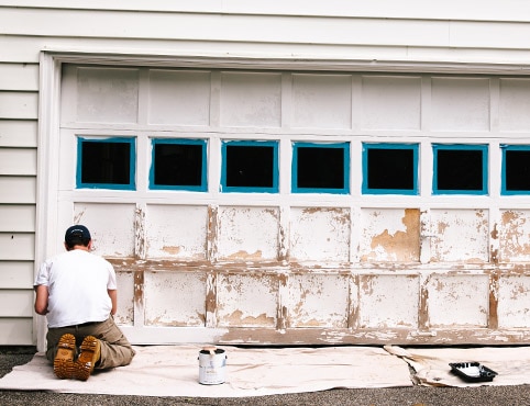
[(131, 183), (131, 143), (82, 142), (81, 183)]

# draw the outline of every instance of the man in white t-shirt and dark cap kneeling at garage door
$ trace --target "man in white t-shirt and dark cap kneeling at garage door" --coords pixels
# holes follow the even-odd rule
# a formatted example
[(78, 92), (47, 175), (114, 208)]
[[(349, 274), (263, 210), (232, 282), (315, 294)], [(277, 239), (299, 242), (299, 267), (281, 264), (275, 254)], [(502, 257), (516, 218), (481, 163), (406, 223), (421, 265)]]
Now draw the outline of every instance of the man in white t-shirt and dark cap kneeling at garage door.
[(87, 227), (69, 227), (66, 252), (46, 260), (35, 278), (35, 312), (48, 323), (46, 358), (60, 379), (86, 381), (93, 369), (128, 365), (135, 354), (113, 319), (114, 269), (91, 246)]

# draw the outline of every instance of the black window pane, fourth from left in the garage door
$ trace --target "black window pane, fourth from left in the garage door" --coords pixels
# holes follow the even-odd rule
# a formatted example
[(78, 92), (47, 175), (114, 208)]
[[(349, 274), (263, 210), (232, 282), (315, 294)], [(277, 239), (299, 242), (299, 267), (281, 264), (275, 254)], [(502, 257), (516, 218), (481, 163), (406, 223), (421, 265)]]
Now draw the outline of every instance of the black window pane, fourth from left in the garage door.
[(344, 149), (298, 147), (297, 188), (344, 189)]

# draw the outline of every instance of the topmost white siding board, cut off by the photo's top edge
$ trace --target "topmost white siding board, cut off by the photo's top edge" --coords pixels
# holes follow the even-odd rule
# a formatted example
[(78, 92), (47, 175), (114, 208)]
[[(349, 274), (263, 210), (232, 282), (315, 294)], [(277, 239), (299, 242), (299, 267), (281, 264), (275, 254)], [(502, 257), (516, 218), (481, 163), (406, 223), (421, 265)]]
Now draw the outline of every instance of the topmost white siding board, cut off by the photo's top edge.
[(158, 12), (197, 12), (197, 13), (241, 13), (270, 15), (334, 15), (365, 18), (416, 18), (450, 20), (522, 20), (528, 21), (528, 8), (525, 1), (506, 0), (503, 7), (497, 2), (457, 1), (429, 2), (422, 0), (377, 0), (377, 1), (303, 1), (303, 0), (0, 0), (0, 5), (16, 5), (37, 9), (86, 9), (131, 10)]

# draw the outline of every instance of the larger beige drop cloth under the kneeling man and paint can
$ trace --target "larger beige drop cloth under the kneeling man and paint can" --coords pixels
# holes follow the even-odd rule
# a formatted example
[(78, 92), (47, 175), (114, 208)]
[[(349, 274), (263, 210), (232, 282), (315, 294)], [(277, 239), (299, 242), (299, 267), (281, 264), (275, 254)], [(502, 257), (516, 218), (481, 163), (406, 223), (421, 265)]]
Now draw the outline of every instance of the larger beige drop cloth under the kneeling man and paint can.
[(128, 366), (97, 372), (87, 382), (58, 380), (43, 353), (15, 366), (0, 388), (141, 396), (243, 397), (336, 387), (411, 386), (407, 363), (383, 348), (235, 348), (225, 350), (225, 383), (199, 384), (200, 347), (135, 347)]

